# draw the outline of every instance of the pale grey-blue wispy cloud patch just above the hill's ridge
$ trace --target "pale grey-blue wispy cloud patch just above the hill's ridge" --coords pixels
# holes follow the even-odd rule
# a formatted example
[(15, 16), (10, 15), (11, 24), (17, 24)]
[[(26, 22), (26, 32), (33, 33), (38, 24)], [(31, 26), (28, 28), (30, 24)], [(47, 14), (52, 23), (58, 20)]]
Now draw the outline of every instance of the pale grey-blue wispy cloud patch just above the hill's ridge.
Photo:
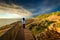
[(40, 15), (40, 14), (43, 14), (43, 13), (49, 13), (51, 12), (52, 10), (54, 10), (56, 7), (55, 6), (51, 6), (51, 7), (48, 7), (48, 6), (39, 6), (35, 9), (30, 9), (30, 11), (33, 13), (33, 15)]

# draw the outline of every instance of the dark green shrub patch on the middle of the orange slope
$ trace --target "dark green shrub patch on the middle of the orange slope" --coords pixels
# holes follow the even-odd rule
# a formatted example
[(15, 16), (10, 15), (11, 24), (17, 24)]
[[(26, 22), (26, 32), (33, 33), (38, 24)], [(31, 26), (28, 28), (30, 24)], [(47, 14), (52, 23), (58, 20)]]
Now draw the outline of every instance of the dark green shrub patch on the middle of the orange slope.
[(40, 33), (44, 31), (44, 29), (48, 28), (54, 21), (43, 20), (39, 24), (33, 23), (29, 26), (29, 30), (31, 30), (34, 34)]

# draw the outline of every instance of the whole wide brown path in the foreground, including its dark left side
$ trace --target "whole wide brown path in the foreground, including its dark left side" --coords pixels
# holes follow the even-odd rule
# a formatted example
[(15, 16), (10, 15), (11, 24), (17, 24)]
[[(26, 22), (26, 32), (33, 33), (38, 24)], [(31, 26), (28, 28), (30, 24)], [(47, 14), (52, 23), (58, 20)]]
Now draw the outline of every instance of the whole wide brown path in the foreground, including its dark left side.
[(15, 26), (9, 29), (0, 40), (34, 40), (32, 33), (28, 29), (23, 29), (18, 22)]

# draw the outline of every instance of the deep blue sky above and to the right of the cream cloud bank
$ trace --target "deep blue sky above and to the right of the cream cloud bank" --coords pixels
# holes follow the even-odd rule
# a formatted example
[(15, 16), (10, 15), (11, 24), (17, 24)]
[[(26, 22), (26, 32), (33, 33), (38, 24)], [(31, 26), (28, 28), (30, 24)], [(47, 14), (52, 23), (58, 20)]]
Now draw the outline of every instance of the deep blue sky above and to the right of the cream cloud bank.
[(33, 16), (60, 11), (60, 0), (1, 0), (0, 3), (22, 6)]

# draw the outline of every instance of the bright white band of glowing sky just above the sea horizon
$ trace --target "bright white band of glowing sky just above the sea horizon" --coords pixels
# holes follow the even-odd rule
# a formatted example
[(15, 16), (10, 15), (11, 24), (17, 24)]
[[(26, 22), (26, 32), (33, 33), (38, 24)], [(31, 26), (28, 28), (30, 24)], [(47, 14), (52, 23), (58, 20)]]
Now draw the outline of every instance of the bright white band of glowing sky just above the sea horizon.
[(0, 18), (27, 18), (27, 15), (24, 14), (13, 14), (13, 13), (0, 13)]

